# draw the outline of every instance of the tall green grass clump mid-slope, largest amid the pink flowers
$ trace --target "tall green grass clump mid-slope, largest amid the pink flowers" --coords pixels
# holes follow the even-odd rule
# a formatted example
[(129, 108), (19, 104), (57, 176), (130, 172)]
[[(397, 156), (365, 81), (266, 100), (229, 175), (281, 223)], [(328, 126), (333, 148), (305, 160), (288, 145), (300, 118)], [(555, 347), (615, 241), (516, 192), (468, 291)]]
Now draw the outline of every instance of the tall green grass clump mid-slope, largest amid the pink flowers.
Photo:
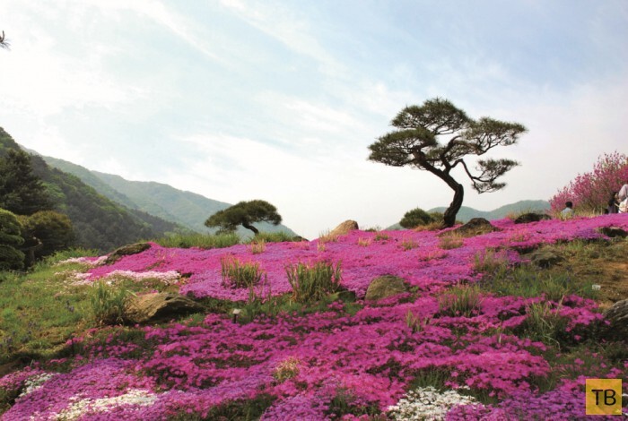
[(336, 266), (332, 262), (289, 263), (285, 272), (292, 287), (292, 299), (297, 303), (317, 301), (340, 288), (340, 262)]

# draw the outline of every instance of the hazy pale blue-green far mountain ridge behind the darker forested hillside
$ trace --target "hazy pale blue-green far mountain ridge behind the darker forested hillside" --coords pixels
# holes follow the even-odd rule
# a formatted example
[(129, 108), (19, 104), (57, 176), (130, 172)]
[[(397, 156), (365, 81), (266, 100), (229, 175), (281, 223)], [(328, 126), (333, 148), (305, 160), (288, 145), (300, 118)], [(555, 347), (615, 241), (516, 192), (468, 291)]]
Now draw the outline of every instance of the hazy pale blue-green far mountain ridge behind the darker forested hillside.
[[(196, 232), (214, 232), (215, 229), (205, 227), (205, 219), (231, 206), (230, 203), (218, 202), (170, 185), (152, 181), (129, 181), (121, 176), (92, 171), (63, 159), (50, 157), (43, 159), (52, 167), (78, 176), (85, 184), (91, 185), (114, 202), (176, 222)], [(292, 229), (283, 225), (275, 227), (272, 224), (256, 223), (255, 226), (262, 231), (283, 231), (291, 236), (296, 235)], [(240, 228), (239, 233), (243, 236), (251, 234), (245, 228)]]

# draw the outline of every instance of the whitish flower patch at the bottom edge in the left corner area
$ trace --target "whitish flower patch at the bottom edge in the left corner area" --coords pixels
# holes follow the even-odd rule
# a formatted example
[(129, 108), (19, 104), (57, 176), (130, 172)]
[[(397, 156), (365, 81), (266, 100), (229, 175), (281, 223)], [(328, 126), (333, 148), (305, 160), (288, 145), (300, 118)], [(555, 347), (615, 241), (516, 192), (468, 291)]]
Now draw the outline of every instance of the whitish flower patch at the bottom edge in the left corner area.
[(121, 405), (138, 405), (138, 406), (150, 406), (157, 400), (157, 396), (150, 391), (144, 391), (141, 389), (131, 389), (124, 395), (116, 396), (114, 398), (100, 398), (92, 400), (85, 398), (83, 400), (78, 397), (70, 398), (73, 402), (69, 407), (63, 411), (55, 414), (52, 419), (71, 421), (83, 417), (87, 413), (93, 412), (107, 412), (111, 408), (116, 408)]

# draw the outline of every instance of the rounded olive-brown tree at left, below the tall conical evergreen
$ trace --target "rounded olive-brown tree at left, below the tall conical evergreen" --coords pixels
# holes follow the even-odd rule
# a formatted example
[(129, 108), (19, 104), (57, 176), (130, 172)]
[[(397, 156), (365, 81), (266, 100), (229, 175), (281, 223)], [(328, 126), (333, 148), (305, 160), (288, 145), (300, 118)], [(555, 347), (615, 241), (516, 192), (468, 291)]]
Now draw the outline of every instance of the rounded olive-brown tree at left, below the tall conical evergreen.
[(28, 262), (48, 256), (74, 245), (74, 229), (67, 215), (57, 211), (39, 211), (19, 217), (22, 222), (24, 245)]

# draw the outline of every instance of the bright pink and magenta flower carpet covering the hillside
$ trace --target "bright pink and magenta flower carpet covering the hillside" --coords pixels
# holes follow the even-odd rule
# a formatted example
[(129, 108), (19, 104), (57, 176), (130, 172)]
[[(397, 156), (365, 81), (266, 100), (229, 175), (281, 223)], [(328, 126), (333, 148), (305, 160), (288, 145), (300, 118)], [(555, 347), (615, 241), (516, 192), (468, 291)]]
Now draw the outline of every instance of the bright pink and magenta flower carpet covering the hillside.
[[(202, 303), (222, 303), (215, 306), (222, 310), (85, 331), (68, 343), (74, 355), (0, 378), (0, 390), (21, 391), (2, 419), (587, 419), (585, 380), (628, 373), (628, 362), (595, 352), (561, 359), (566, 347), (595, 340), (604, 325), (595, 301), (479, 288), (477, 305), (465, 313), (443, 297), (481, 283), (477, 262), (486, 256), (516, 266), (539, 245), (610, 241), (598, 228), (628, 230), (628, 215), (492, 224), (500, 230), (451, 248), (432, 231), (356, 230), (325, 243), (268, 243), (261, 253), (249, 245), (151, 244), (113, 264), (85, 266), (78, 277), (84, 288), (114, 272), (137, 279), (151, 272), (146, 276)], [(227, 256), (257, 262), (264, 280), (254, 292), (266, 304), (292, 293), (286, 265), (299, 262), (339, 263), (341, 287), (356, 298), (234, 322), (231, 309), (246, 307), (251, 291), (222, 281)], [(382, 275), (405, 279), (408, 291), (365, 300)], [(560, 344), (523, 334), (530, 309), (561, 326)]]

